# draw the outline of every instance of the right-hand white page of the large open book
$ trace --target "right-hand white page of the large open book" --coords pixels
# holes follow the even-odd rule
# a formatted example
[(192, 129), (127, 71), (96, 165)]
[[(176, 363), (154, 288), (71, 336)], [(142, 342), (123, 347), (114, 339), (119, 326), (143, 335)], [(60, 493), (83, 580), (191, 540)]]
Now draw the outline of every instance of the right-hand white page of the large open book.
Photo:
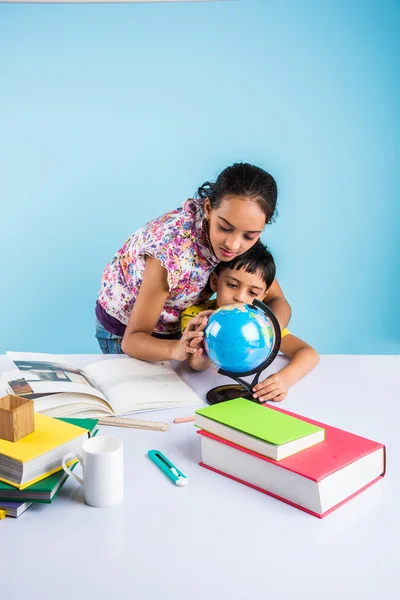
[(168, 363), (126, 357), (86, 365), (85, 372), (117, 416), (203, 403)]

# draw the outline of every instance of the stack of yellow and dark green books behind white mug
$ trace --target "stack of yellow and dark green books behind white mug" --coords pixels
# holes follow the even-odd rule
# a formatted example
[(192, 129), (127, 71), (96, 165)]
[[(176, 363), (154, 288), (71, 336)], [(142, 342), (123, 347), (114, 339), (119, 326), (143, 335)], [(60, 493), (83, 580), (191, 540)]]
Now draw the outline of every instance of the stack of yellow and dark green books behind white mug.
[(35, 431), (17, 442), (0, 439), (0, 509), (7, 516), (18, 517), (35, 502), (52, 502), (68, 478), (62, 457), (80, 452), (97, 433), (98, 419), (35, 413), (34, 420)]

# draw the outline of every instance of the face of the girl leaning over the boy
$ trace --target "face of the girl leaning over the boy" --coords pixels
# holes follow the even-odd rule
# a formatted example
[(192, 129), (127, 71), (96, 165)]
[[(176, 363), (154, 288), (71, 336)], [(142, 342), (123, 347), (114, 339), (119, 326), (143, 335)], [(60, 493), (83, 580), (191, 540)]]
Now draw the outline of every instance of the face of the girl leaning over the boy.
[(265, 226), (265, 213), (244, 196), (227, 196), (218, 208), (211, 208), (206, 198), (204, 209), (214, 254), (224, 262), (251, 248)]

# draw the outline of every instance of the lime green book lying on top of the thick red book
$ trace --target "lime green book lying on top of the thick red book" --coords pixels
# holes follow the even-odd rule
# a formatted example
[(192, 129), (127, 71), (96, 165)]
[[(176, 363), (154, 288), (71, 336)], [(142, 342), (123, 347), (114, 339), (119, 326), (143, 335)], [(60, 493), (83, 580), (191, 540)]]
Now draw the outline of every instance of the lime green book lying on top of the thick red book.
[(200, 408), (194, 424), (274, 460), (282, 460), (325, 439), (322, 427), (244, 398)]

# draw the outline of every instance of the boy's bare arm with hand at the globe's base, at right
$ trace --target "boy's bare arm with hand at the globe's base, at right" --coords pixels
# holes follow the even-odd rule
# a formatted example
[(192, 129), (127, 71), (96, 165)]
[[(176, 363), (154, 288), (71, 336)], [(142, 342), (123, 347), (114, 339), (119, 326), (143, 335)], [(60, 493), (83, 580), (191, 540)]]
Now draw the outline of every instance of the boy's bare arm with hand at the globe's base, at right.
[(281, 371), (254, 386), (253, 397), (258, 398), (259, 402), (280, 402), (286, 398), (289, 388), (319, 363), (319, 356), (314, 348), (291, 333), (282, 338), (280, 350), (291, 360)]

